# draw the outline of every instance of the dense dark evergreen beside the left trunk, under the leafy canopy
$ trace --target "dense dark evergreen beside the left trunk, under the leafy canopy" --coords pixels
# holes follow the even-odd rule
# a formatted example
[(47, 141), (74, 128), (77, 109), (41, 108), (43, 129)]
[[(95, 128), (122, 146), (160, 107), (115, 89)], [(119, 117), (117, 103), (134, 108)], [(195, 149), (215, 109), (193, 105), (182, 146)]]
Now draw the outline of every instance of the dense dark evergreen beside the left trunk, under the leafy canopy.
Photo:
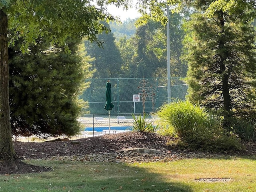
[[(19, 41), (20, 42), (20, 41)], [(86, 105), (78, 101), (88, 63), (77, 54), (78, 42), (70, 40), (70, 54), (51, 48), (43, 40), (22, 54), (20, 44), (9, 48), (9, 92), (12, 133), (16, 136), (72, 136), (80, 131), (78, 115)]]

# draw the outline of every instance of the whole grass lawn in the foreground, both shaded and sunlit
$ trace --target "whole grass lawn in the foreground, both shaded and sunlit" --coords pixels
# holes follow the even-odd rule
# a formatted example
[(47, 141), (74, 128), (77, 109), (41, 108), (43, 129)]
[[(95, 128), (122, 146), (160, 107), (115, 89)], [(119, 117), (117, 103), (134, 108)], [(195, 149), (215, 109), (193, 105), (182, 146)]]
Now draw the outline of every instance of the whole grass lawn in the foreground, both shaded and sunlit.
[[(255, 192), (256, 156), (154, 163), (28, 160), (53, 171), (1, 175), (0, 192)], [(228, 182), (198, 182), (230, 178)]]

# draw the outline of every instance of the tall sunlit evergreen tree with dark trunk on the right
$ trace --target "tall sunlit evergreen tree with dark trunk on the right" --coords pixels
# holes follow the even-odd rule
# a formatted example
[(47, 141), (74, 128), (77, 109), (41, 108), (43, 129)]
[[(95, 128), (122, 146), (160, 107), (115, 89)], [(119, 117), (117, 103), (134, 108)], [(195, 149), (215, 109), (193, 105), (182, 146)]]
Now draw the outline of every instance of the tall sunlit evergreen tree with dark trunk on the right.
[[(201, 102), (224, 117), (255, 106), (249, 95), (256, 74), (255, 30), (250, 25), (255, 1), (193, 2), (199, 13), (189, 22), (187, 38), (189, 99)], [(255, 15), (254, 15), (255, 16)]]

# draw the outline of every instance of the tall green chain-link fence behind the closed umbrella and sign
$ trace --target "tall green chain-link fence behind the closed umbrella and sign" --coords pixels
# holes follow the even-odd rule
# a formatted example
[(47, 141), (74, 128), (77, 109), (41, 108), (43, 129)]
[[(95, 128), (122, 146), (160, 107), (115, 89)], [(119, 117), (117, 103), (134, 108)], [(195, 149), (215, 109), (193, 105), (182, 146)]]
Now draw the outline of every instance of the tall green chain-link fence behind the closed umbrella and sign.
[[(183, 78), (171, 78), (171, 101), (184, 100), (188, 85)], [(90, 82), (81, 95), (84, 101), (89, 102), (90, 114), (106, 114), (106, 82), (107, 79), (86, 79)], [(111, 113), (151, 113), (167, 102), (167, 78), (118, 78), (110, 79), (112, 103), (115, 107)], [(140, 102), (134, 102), (133, 95), (140, 95)], [(144, 98), (144, 102), (142, 102)], [(143, 106), (144, 103), (144, 106)]]

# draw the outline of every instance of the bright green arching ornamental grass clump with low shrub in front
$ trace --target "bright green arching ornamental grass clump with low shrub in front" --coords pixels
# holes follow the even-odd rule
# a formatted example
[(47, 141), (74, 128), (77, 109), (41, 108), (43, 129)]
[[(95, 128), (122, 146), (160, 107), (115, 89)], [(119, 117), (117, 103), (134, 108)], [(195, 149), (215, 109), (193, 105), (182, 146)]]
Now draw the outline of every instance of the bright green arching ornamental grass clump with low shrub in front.
[(174, 128), (182, 142), (170, 145), (186, 146), (204, 151), (240, 150), (241, 145), (234, 135), (230, 135), (205, 108), (188, 101), (166, 104), (158, 111), (165, 124)]

